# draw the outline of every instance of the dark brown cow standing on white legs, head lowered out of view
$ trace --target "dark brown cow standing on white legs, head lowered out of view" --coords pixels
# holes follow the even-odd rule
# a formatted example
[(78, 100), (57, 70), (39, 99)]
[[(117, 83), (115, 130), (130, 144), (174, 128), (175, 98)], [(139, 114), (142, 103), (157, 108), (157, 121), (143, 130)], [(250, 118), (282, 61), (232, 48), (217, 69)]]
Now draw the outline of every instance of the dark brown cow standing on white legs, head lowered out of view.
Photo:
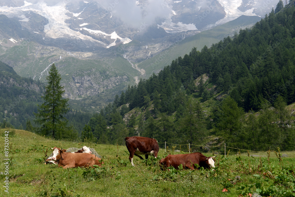
[(158, 157), (159, 145), (153, 138), (137, 136), (126, 137), (125, 144), (130, 153), (129, 160), (132, 166), (135, 166), (133, 163), (134, 155), (140, 159), (143, 159), (140, 155), (145, 155), (145, 159), (148, 159), (148, 155), (152, 155), (155, 158)]

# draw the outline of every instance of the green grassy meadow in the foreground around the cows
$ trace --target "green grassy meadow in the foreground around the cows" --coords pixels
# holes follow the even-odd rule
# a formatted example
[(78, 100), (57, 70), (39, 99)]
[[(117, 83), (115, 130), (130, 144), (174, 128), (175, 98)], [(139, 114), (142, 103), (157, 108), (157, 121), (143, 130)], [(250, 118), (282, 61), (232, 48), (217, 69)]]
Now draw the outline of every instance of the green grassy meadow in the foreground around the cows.
[[(9, 161), (9, 193), (1, 187), (0, 196), (295, 195), (294, 152), (286, 152), (289, 157), (281, 160), (272, 152), (268, 161), (265, 153), (251, 152), (251, 155), (261, 157), (248, 157), (247, 152), (238, 155), (230, 151), (226, 158), (224, 155), (216, 157), (215, 170), (171, 168), (170, 171), (162, 171), (158, 162), (165, 156), (164, 149), (160, 149), (157, 159), (140, 160), (135, 156), (135, 167), (132, 167), (125, 146), (56, 141), (15, 129), (6, 136), (5, 129), (1, 129), (0, 134), (1, 185), (5, 185), (5, 162)], [(7, 136), (9, 157), (5, 157), (4, 151), (4, 137)], [(63, 169), (57, 165), (44, 165), (45, 155), (51, 154), (49, 147), (67, 149), (84, 145), (94, 148), (102, 156), (103, 167)], [(277, 154), (279, 157), (283, 153)], [(4, 160), (7, 158), (9, 160)], [(224, 188), (226, 192), (223, 192)]]

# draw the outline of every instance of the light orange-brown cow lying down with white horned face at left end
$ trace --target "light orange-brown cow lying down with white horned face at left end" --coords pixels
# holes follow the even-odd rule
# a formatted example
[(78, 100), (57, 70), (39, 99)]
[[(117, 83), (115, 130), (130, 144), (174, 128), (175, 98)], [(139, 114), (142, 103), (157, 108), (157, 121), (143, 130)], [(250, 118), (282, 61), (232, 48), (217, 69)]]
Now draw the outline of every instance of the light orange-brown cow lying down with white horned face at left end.
[(103, 164), (103, 162), (100, 162), (100, 158), (90, 153), (76, 154), (65, 152), (65, 149), (58, 147), (51, 149), (53, 149), (52, 160), (58, 162), (58, 167), (62, 166), (64, 169), (76, 167), (93, 167), (93, 165), (101, 166), (101, 164)]

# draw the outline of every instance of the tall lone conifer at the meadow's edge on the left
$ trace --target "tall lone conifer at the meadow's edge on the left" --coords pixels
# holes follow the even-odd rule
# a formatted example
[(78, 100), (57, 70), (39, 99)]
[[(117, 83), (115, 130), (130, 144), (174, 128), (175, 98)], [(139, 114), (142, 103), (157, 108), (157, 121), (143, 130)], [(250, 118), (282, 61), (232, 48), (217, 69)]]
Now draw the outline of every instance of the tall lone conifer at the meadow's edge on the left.
[(53, 139), (69, 138), (73, 131), (71, 127), (67, 127), (68, 120), (63, 117), (69, 111), (68, 99), (62, 97), (65, 90), (60, 85), (61, 77), (54, 64), (46, 79), (48, 84), (42, 96), (44, 103), (38, 105), (34, 120), (41, 127), (34, 128), (35, 132)]

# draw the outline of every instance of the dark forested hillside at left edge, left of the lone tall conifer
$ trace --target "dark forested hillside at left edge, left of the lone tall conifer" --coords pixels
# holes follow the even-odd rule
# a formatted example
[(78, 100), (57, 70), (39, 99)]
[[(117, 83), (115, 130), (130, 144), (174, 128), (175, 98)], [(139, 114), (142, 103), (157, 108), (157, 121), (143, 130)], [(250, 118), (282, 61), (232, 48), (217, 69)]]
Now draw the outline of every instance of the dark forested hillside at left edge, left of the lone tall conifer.
[(34, 118), (37, 104), (42, 102), (43, 86), (17, 75), (12, 67), (0, 62), (0, 122), (26, 128), (27, 119)]

